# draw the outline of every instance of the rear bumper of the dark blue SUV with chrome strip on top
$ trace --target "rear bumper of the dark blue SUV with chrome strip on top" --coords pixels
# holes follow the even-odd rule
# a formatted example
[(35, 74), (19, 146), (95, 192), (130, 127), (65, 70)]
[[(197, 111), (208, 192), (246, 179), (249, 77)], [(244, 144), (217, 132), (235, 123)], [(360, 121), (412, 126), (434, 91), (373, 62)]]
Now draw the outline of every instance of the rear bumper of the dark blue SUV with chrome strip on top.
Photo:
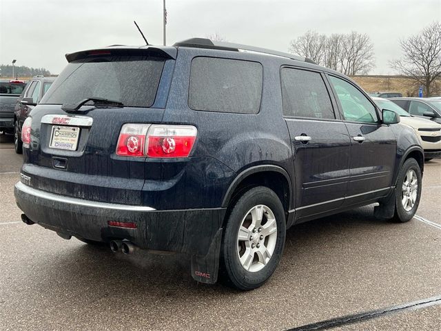
[[(226, 208), (154, 210), (140, 205), (101, 203), (63, 197), (21, 182), (14, 188), (25, 215), (49, 230), (94, 241), (127, 239), (143, 249), (207, 254), (221, 228)], [(134, 222), (117, 228), (108, 221)]]

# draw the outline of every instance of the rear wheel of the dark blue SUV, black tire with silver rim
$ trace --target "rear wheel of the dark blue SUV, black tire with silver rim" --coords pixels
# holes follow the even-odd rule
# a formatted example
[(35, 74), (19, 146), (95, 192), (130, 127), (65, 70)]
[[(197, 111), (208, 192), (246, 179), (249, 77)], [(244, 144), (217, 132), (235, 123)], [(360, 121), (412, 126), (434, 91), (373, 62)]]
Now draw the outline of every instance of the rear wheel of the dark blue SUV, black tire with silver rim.
[[(247, 217), (247, 215), (251, 217), (249, 212), (254, 208), (260, 208), (263, 210), (263, 217), (261, 217), (262, 225), (259, 227), (260, 230), (264, 228), (264, 230), (262, 230), (262, 234), (265, 234), (265, 225), (269, 225), (269, 218), (267, 219), (267, 216), (269, 215), (268, 212), (272, 212), (274, 219), (276, 220), (276, 229), (274, 229), (273, 226), (274, 232), (272, 233), (274, 233), (274, 235), (266, 234), (267, 237), (265, 237), (265, 239), (258, 239), (257, 237), (254, 238), (254, 235), (258, 234), (260, 231), (256, 230), (256, 232), (253, 232), (250, 230), (249, 234), (256, 239), (257, 243), (261, 243), (260, 246), (254, 244), (255, 241), (252, 241), (251, 239), (249, 239), (248, 243), (245, 243), (245, 241), (240, 242), (243, 243), (244, 249), (245, 244), (249, 245), (248, 249), (251, 253), (248, 253), (247, 255), (249, 255), (249, 257), (253, 257), (251, 266), (262, 268), (258, 271), (252, 272), (246, 270), (245, 267), (243, 267), (243, 265), (240, 263), (240, 243), (238, 241), (238, 230), (240, 226), (243, 225), (245, 217)], [(271, 223), (274, 224), (274, 221)], [(249, 228), (252, 228), (252, 224), (249, 225)], [(260, 285), (265, 283), (265, 281), (271, 277), (274, 270), (276, 270), (280, 257), (282, 257), (283, 248), (285, 245), (285, 236), (285, 210), (283, 209), (283, 205), (280, 202), (280, 199), (278, 199), (277, 194), (269, 188), (263, 186), (252, 188), (243, 193), (242, 197), (240, 197), (240, 199), (238, 199), (238, 201), (234, 204), (224, 228), (223, 242), (220, 249), (220, 281), (222, 281), (225, 285), (238, 290), (253, 290), (254, 288), (258, 288)], [(263, 236), (260, 238), (262, 237)], [(269, 241), (271, 241), (272, 244), (270, 244)], [(254, 253), (251, 250), (251, 245), (253, 244), (256, 250), (259, 247), (262, 249), (266, 248), (268, 252), (269, 250), (274, 249), (271, 257), (268, 257), (268, 255), (265, 254), (265, 257), (263, 258), (265, 260), (265, 264), (258, 262), (258, 252)], [(245, 255), (245, 253), (243, 254)], [(261, 254), (260, 257), (262, 257)], [(256, 258), (258, 261), (255, 262), (254, 259)], [(266, 259), (269, 260), (266, 261)]]

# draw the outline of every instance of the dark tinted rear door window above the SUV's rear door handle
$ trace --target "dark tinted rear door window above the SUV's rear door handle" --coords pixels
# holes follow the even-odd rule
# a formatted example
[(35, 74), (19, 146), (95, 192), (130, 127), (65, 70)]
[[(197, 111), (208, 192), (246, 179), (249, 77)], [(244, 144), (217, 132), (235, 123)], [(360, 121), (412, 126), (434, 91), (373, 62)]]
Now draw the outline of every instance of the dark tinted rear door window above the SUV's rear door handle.
[(336, 118), (325, 82), (318, 72), (282, 68), (280, 75), (285, 116)]

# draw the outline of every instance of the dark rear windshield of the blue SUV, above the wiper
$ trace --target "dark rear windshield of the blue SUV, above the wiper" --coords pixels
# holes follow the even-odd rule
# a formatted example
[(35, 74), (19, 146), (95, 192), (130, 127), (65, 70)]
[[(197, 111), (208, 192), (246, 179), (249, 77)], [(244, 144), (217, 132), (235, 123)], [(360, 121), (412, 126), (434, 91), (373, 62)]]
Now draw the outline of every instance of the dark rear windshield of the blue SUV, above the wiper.
[(164, 62), (163, 58), (139, 56), (72, 61), (40, 103), (72, 105), (87, 98), (104, 98), (124, 106), (150, 107)]

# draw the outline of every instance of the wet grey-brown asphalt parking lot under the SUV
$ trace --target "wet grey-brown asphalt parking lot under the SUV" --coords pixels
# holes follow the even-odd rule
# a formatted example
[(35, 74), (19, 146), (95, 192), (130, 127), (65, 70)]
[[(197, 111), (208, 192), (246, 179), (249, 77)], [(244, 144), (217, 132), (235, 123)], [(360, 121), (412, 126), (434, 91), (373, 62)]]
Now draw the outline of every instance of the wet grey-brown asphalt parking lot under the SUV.
[(196, 283), (185, 256), (127, 257), (25, 225), (13, 197), (20, 165), (0, 136), (0, 330), (320, 330), (375, 310), (332, 330), (440, 328), (441, 161), (426, 163), (418, 217), (379, 221), (368, 206), (297, 225), (252, 292)]

